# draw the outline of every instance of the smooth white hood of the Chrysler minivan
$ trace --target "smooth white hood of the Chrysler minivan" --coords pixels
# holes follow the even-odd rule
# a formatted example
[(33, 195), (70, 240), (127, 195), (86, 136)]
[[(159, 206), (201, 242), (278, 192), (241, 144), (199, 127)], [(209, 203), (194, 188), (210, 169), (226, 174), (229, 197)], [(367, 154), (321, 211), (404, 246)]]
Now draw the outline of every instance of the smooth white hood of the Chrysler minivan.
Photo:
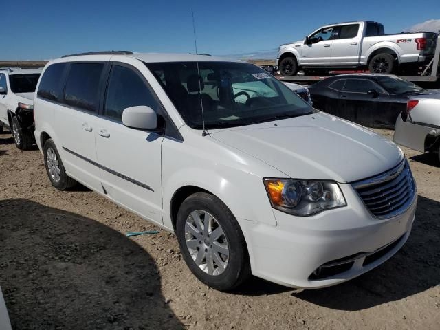
[(404, 158), (385, 137), (326, 113), (210, 131), (210, 135), (295, 179), (357, 181), (389, 170)]

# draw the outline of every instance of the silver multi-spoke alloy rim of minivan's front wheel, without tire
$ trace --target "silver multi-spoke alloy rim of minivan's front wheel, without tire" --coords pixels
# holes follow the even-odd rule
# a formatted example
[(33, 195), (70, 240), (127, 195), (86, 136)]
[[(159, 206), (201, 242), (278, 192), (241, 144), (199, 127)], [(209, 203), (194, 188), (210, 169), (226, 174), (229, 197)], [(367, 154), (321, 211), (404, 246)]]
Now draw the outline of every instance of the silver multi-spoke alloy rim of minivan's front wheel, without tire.
[(186, 248), (206, 274), (217, 276), (228, 267), (228, 241), (220, 223), (206, 211), (191, 212), (185, 223)]

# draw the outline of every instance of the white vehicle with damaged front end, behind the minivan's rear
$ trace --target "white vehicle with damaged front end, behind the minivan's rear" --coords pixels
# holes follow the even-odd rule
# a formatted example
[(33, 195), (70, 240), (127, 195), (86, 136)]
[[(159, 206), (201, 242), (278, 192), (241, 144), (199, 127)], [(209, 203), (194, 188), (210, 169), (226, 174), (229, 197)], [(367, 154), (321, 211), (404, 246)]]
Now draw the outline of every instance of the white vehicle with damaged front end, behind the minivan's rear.
[(0, 132), (8, 129), (17, 148), (34, 144), (34, 91), (41, 69), (0, 69)]

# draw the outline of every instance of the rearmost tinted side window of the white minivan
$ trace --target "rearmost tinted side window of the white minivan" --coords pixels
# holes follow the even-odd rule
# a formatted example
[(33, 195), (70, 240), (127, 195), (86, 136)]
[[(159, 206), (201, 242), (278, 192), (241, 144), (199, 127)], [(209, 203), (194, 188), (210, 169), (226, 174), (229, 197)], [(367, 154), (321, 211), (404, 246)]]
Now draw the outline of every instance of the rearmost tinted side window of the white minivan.
[(65, 67), (66, 63), (56, 63), (47, 67), (41, 78), (39, 91), (37, 92), (39, 97), (47, 98), (47, 100), (60, 100), (63, 92), (62, 79)]

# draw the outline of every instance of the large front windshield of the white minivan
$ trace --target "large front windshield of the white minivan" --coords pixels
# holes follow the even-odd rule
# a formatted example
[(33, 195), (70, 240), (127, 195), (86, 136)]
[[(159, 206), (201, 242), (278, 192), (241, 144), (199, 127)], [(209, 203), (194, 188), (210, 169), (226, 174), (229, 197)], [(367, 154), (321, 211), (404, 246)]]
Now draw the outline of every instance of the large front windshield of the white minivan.
[[(194, 129), (244, 126), (316, 112), (276, 78), (248, 63), (147, 63), (166, 94)], [(201, 91), (201, 93), (199, 92)]]

